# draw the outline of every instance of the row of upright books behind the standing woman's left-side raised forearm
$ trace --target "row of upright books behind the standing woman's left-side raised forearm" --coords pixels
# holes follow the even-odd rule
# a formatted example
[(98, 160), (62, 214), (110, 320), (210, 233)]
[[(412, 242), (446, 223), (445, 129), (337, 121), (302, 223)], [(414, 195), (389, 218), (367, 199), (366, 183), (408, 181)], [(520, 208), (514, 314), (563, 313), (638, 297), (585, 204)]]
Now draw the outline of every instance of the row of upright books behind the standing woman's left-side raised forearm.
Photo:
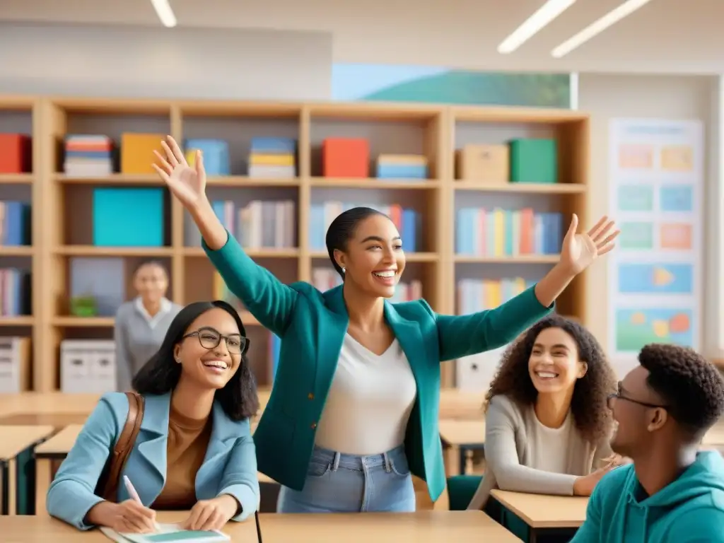
[[(242, 247), (293, 248), (297, 245), (297, 219), (293, 201), (253, 200), (240, 207), (233, 201), (217, 200), (211, 202), (211, 206), (230, 235)], [(201, 233), (190, 219), (186, 221), (185, 230), (186, 244), (200, 246)]]

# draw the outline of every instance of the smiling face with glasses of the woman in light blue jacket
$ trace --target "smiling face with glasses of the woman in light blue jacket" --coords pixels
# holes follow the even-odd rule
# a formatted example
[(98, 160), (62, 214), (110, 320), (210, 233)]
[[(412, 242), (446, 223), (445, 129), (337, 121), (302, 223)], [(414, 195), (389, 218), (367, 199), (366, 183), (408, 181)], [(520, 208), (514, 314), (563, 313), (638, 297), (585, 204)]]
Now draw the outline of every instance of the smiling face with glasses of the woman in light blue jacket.
[(227, 311), (214, 308), (202, 313), (174, 348), (174, 358), (182, 365), (181, 379), (204, 389), (224, 388), (239, 369), (244, 342)]

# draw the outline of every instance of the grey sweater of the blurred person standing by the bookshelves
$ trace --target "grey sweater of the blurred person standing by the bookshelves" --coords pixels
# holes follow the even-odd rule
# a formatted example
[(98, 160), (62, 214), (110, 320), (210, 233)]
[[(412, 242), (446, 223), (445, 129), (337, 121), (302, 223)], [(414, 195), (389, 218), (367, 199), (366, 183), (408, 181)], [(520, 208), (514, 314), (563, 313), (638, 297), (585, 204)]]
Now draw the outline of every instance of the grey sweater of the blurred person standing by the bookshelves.
[(138, 300), (130, 300), (116, 313), (116, 390), (121, 392), (131, 390), (133, 376), (159, 350), (171, 321), (181, 311), (181, 306), (166, 302), (168, 311), (156, 315), (152, 326), (137, 304)]

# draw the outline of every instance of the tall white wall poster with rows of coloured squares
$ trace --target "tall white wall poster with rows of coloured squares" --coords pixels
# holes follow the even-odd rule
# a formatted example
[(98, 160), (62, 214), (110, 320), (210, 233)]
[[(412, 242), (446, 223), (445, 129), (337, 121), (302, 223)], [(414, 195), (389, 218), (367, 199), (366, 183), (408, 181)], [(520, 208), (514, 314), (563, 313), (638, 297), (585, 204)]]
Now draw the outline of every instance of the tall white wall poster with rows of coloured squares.
[(608, 259), (608, 330), (618, 361), (635, 361), (647, 343), (701, 345), (703, 140), (700, 122), (611, 121), (610, 209), (621, 233)]

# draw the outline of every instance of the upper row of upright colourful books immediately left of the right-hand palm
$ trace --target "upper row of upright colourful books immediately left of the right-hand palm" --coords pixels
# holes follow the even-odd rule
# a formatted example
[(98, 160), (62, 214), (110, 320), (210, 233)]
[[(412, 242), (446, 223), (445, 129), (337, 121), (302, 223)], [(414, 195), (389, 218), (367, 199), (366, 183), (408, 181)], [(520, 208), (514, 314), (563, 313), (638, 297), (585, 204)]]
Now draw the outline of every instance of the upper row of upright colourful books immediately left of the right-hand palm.
[(563, 241), (560, 213), (463, 208), (456, 223), (455, 251), (460, 255), (554, 255)]

